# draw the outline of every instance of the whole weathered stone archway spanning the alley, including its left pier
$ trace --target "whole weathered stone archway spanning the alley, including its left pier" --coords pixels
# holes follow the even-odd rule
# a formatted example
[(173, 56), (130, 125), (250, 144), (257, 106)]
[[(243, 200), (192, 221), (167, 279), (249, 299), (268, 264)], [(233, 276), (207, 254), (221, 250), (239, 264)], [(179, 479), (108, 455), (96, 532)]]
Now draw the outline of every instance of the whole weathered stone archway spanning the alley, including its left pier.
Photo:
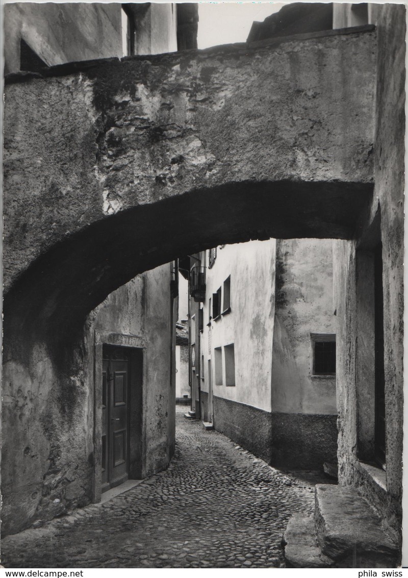
[[(366, 27), (8, 79), (5, 394), (21, 403), (11, 429), (53, 402), (29, 422), (46, 475), (71, 472), (55, 424), (92, 414), (86, 321), (110, 292), (218, 243), (354, 238), (373, 188), (374, 42)], [(88, 492), (92, 448), (89, 429)], [(17, 477), (10, 447), (5, 461)], [(40, 476), (34, 457), (25, 475)], [(23, 493), (4, 520), (27, 517)]]

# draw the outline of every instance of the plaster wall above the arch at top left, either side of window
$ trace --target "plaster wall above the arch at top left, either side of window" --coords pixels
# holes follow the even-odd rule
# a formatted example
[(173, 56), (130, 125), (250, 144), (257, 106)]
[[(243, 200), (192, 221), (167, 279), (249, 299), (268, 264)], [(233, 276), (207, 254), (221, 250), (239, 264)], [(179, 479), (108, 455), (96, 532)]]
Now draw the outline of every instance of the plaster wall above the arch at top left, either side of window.
[[(135, 8), (136, 54), (177, 50), (176, 6)], [(20, 71), (20, 39), (48, 65), (123, 57), (120, 3), (31, 3), (4, 6), (5, 74)]]

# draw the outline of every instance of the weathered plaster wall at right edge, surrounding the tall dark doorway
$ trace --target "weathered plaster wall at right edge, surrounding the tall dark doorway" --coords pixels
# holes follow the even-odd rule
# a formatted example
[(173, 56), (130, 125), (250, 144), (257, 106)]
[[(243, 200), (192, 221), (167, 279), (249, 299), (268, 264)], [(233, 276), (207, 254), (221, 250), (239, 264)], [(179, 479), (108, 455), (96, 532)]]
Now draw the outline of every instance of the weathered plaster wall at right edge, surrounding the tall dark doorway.
[[(376, 147), (374, 198), (361, 226), (365, 238), (374, 216), (381, 214), (384, 292), (384, 364), (386, 411), (385, 476), (362, 468), (357, 456), (355, 381), (358, 362), (356, 323), (356, 260), (354, 242), (336, 242), (335, 288), (339, 347), (339, 481), (359, 487), (380, 510), (385, 524), (400, 537), (402, 496), (403, 409), (403, 190), (405, 131), (405, 6), (372, 5), (377, 25)], [(373, 473), (374, 472), (374, 473)], [(385, 477), (386, 492), (375, 477)]]

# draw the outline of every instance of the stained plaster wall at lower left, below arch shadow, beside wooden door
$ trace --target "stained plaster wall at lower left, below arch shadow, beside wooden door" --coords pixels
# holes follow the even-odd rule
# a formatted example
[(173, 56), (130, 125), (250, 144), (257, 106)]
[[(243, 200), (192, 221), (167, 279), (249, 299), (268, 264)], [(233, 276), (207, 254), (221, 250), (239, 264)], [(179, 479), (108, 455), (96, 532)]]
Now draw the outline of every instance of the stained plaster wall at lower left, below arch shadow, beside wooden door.
[(69, 368), (62, 373), (50, 360), (46, 344), (33, 344), (24, 364), (5, 347), (3, 535), (92, 499), (92, 350), (93, 336), (87, 327), (71, 352)]

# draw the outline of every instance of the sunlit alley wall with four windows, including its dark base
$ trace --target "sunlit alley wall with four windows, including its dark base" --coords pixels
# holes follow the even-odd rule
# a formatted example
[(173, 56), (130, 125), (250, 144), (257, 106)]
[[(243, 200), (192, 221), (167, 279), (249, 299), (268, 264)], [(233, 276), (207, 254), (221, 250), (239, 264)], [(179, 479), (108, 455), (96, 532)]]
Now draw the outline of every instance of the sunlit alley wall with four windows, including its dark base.
[[(214, 426), (268, 458), (275, 239), (217, 247), (216, 261), (207, 271), (207, 298), (203, 304), (205, 331), (201, 335), (202, 417), (206, 417), (208, 407), (208, 360), (211, 359)], [(224, 311), (228, 277), (231, 310), (214, 318), (209, 299), (221, 288), (221, 312)], [(233, 373), (233, 379), (228, 377), (227, 370)]]

